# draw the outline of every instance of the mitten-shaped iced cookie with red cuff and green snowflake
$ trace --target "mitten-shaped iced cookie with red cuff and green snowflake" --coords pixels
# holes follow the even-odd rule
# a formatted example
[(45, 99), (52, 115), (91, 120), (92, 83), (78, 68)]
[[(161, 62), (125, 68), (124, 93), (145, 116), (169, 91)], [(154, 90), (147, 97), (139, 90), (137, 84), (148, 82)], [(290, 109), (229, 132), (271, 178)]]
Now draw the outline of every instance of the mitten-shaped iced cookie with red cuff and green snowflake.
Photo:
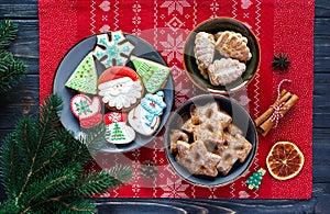
[(88, 95), (77, 94), (70, 101), (70, 109), (82, 128), (90, 128), (102, 122), (101, 102), (97, 97), (90, 99)]

